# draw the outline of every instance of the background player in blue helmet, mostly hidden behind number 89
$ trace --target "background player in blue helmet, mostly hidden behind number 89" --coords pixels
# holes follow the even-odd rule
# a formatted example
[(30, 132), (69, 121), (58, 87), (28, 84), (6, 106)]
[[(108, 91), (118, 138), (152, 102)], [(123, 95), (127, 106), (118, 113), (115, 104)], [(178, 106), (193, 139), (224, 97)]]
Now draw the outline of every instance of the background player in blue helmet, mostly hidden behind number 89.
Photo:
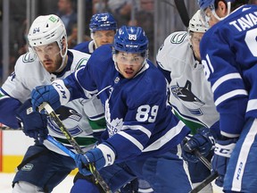
[(97, 47), (112, 44), (117, 22), (111, 13), (96, 13), (90, 20), (89, 29), (93, 40), (82, 42), (74, 49), (91, 55)]

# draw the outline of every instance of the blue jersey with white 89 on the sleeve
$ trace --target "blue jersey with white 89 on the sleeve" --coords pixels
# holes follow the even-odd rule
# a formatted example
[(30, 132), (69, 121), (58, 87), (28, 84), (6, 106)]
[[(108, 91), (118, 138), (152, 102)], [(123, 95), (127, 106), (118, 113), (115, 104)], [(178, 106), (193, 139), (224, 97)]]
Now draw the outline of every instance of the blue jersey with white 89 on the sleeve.
[(116, 162), (162, 154), (189, 132), (171, 112), (162, 72), (147, 61), (133, 79), (124, 79), (112, 61), (111, 45), (97, 48), (87, 66), (64, 82), (72, 90), (71, 99), (98, 92), (105, 110), (106, 140), (115, 149)]

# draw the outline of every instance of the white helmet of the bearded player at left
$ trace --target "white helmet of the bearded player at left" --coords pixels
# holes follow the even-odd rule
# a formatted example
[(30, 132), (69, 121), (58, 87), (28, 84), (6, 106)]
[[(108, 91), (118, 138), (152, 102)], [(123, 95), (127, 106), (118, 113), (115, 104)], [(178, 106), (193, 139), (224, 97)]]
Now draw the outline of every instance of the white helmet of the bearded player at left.
[(54, 14), (38, 16), (31, 24), (28, 34), (31, 47), (57, 42), (62, 50), (62, 38), (67, 42), (66, 29), (62, 20)]

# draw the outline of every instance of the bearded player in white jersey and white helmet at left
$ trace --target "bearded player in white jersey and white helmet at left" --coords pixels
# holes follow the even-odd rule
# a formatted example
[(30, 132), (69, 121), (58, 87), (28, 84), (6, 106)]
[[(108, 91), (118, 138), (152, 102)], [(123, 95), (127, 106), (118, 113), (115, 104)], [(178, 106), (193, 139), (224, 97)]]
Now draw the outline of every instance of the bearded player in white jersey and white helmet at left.
[[(15, 117), (18, 109), (23, 131), (36, 138), (35, 145), (29, 147), (18, 166), (19, 171), (13, 179), (13, 193), (51, 192), (76, 168), (70, 156), (44, 140), (49, 133), (72, 149), (62, 131), (46, 115), (29, 112), (31, 103), (27, 99), (36, 86), (50, 84), (84, 67), (90, 56), (68, 49), (64, 25), (56, 15), (37, 17), (29, 29), (28, 38), (30, 52), (18, 59), (15, 71), (1, 88), (0, 97), (1, 109), (4, 109), (0, 113), (1, 122), (18, 128), (19, 122)], [(58, 108), (56, 113), (85, 151), (95, 144), (93, 134), (105, 129), (104, 108), (96, 98), (92, 101), (73, 100)]]

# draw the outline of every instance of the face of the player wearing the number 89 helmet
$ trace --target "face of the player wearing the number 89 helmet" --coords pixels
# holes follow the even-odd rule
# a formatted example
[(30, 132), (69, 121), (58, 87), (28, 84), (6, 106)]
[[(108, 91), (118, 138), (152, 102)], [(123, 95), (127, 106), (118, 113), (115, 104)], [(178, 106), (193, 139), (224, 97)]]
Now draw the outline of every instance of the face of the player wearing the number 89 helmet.
[(145, 62), (145, 58), (140, 54), (119, 52), (115, 56), (117, 67), (126, 79), (132, 79)]

